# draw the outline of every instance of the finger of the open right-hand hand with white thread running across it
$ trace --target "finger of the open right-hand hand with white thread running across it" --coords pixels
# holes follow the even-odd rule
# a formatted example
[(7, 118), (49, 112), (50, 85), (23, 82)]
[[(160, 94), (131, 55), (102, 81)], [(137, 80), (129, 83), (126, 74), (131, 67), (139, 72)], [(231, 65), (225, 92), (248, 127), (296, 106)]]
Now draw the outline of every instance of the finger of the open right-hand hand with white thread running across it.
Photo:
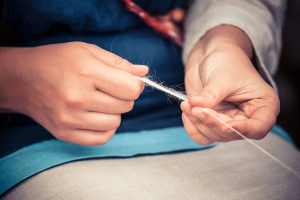
[(216, 116), (219, 119), (221, 119), (223, 122), (226, 122), (228, 120), (232, 120), (231, 117), (229, 117), (229, 116), (227, 116), (225, 114), (222, 114), (222, 113), (218, 113), (218, 112), (216, 112), (216, 111), (214, 111), (212, 109), (209, 109), (209, 108), (203, 109), (201, 107), (193, 107), (191, 109), (191, 113), (193, 115), (197, 116), (203, 122), (203, 124), (205, 124), (205, 126), (209, 127), (217, 135), (219, 135), (220, 137), (224, 138), (224, 140), (221, 140), (222, 142), (242, 139), (242, 137), (240, 137), (235, 132), (231, 132), (231, 131), (230, 132), (226, 132), (226, 131), (224, 131), (222, 129), (222, 127), (224, 126), (224, 124), (221, 121), (219, 121), (218, 119), (216, 119), (214, 116), (212, 116), (206, 110), (208, 110), (214, 116)]

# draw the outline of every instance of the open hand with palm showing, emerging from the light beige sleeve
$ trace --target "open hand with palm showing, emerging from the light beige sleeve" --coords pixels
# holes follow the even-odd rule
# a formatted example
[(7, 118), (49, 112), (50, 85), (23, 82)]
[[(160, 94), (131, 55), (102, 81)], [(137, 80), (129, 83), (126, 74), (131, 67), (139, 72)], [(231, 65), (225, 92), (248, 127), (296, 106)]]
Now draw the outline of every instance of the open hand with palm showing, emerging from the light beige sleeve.
[(278, 96), (252, 65), (251, 54), (250, 40), (232, 26), (209, 31), (191, 52), (185, 72), (190, 98), (181, 109), (184, 127), (197, 143), (241, 139), (201, 107), (251, 139), (263, 138), (275, 124)]

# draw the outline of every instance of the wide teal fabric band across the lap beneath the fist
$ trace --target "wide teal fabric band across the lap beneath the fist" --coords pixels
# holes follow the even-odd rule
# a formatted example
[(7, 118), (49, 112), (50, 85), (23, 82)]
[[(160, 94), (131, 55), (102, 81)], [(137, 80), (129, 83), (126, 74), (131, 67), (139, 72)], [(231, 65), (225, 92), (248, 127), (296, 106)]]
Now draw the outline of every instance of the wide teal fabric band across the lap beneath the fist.
[(80, 159), (132, 157), (208, 148), (189, 138), (184, 127), (115, 134), (103, 146), (81, 146), (51, 139), (21, 148), (0, 159), (0, 194), (47, 168)]

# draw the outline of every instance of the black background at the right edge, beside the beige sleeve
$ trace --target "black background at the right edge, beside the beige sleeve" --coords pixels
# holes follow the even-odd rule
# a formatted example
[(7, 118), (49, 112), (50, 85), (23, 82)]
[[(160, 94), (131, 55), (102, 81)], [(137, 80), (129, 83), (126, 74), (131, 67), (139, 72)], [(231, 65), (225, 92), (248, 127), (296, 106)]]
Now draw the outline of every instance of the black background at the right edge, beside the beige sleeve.
[(300, 148), (300, 0), (289, 0), (286, 11), (281, 60), (275, 75), (281, 106), (277, 123)]

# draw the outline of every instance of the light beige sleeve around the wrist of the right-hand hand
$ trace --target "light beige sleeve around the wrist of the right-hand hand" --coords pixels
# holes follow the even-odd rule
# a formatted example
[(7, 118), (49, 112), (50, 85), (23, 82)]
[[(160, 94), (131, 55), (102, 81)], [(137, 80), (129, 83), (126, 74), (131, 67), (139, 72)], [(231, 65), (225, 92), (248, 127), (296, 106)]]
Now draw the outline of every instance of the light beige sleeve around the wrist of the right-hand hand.
[(187, 62), (195, 43), (211, 28), (230, 24), (250, 38), (260, 75), (277, 91), (272, 75), (281, 53), (286, 0), (193, 0), (184, 22), (182, 59)]

